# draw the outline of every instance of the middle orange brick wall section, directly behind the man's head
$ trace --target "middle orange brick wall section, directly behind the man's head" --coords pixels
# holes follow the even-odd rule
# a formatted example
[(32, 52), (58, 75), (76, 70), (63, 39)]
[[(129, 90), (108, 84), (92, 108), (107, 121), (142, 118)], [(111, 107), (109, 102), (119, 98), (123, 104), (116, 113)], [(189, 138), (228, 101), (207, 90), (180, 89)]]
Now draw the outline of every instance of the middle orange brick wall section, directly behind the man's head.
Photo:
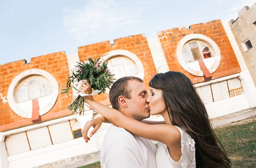
[[(86, 61), (88, 57), (97, 58), (98, 55), (103, 56), (112, 50), (124, 49), (135, 54), (143, 64), (144, 67), (144, 84), (149, 89), (148, 83), (151, 78), (157, 73), (154, 61), (148, 46), (148, 41), (143, 34), (138, 34), (129, 37), (123, 37), (114, 40), (111, 45), (109, 41), (95, 43), (78, 48), (80, 61)], [(98, 101), (107, 100), (108, 94), (96, 95), (94, 97)]]

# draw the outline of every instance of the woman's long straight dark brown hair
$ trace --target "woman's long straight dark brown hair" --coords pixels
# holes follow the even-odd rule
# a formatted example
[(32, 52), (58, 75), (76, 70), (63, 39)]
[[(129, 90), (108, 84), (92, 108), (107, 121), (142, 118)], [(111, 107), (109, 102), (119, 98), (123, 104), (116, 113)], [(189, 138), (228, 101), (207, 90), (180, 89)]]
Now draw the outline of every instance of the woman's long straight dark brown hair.
[(163, 91), (169, 118), (195, 140), (197, 168), (230, 168), (231, 162), (216, 137), (192, 81), (180, 72), (155, 75), (149, 86)]

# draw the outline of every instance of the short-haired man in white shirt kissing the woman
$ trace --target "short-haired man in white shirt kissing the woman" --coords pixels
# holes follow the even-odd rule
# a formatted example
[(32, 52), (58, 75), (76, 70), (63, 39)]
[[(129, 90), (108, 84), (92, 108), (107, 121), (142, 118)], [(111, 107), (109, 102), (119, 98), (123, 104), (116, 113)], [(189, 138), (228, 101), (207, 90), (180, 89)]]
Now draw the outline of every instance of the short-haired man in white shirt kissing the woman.
[[(138, 77), (116, 80), (109, 92), (112, 108), (138, 121), (150, 117), (147, 97), (143, 80)], [(89, 128), (94, 126), (94, 134), (104, 119), (99, 117), (85, 124), (82, 134), (86, 142)], [(100, 151), (101, 168), (156, 168), (156, 152), (157, 148), (150, 140), (111, 125)]]

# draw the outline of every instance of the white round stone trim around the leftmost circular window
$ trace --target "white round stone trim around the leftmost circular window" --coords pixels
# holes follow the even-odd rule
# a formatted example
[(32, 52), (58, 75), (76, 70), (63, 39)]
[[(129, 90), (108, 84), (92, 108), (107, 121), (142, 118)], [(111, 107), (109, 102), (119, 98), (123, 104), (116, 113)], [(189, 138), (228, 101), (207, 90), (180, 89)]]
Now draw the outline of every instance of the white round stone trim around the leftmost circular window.
[(12, 83), (9, 86), (7, 97), (9, 100), (9, 106), (12, 108), (12, 111), (14, 111), (20, 117), (24, 117), (24, 118), (31, 118), (31, 114), (28, 114), (26, 111), (23, 111), (17, 106), (17, 102), (15, 100), (15, 92), (19, 82), (31, 75), (41, 75), (47, 78), (47, 80), (49, 80), (49, 82), (52, 85), (52, 100), (49, 102), (49, 104), (45, 108), (39, 110), (40, 116), (46, 114), (53, 107), (53, 105), (55, 104), (58, 98), (58, 82), (49, 72), (41, 69), (29, 69), (18, 74), (12, 80)]

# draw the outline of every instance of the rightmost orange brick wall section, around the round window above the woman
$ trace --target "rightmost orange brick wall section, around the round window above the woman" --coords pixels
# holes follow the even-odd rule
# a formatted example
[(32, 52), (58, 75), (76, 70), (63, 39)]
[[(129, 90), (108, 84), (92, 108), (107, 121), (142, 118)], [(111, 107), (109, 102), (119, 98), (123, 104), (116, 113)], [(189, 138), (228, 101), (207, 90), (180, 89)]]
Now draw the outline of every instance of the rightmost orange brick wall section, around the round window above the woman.
[(160, 43), (166, 56), (170, 71), (182, 72), (189, 77), (193, 83), (204, 82), (204, 77), (197, 77), (185, 71), (177, 60), (177, 46), (180, 40), (189, 34), (204, 34), (218, 45), (221, 51), (221, 62), (218, 69), (212, 74), (212, 79), (236, 74), (241, 71), (238, 60), (236, 59), (236, 55), (220, 20), (200, 23), (190, 27), (191, 28), (189, 29), (182, 28), (180, 30), (179, 28), (173, 28), (170, 30), (161, 31), (162, 34), (158, 34), (158, 37), (163, 37), (164, 33), (172, 32), (172, 34), (166, 34), (167, 38), (163, 38), (163, 40), (160, 39)]

